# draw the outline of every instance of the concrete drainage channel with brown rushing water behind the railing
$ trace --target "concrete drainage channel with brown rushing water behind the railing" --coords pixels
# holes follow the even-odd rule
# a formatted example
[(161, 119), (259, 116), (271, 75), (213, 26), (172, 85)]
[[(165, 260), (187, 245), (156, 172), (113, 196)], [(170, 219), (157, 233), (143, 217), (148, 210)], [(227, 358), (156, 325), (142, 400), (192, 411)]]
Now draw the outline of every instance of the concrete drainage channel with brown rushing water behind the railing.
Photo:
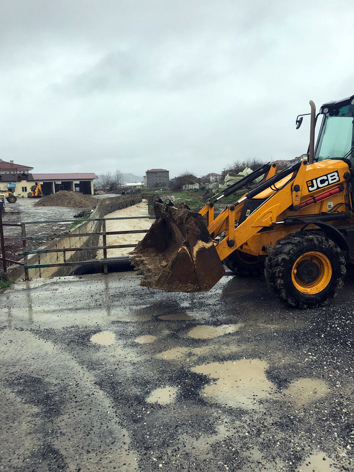
[[(50, 240), (56, 238), (51, 244), (41, 249), (26, 250), (27, 241), (35, 240), (38, 236), (23, 237), (25, 279), (58, 277), (68, 274), (83, 274), (96, 272), (114, 272), (119, 270), (130, 270), (130, 260), (125, 257), (107, 257), (107, 249), (133, 248), (135, 244), (107, 244), (107, 236), (146, 233), (147, 230), (106, 231), (107, 220), (125, 219), (154, 219), (149, 216), (104, 218), (112, 211), (121, 210), (126, 207), (142, 202), (141, 194), (121, 195), (113, 198), (102, 199), (92, 217), (82, 221), (70, 234), (52, 234), (45, 236)], [(68, 222), (72, 220), (55, 220), (55, 222)], [(77, 220), (76, 220), (77, 221)], [(26, 225), (38, 225), (52, 221), (29, 221)], [(98, 245), (99, 237), (102, 236), (103, 244)], [(43, 236), (39, 236), (43, 239)], [(93, 259), (98, 250), (103, 250), (101, 260)], [(67, 255), (69, 254), (69, 257)], [(85, 270), (84, 266), (87, 266)], [(74, 267), (74, 270), (73, 270)]]

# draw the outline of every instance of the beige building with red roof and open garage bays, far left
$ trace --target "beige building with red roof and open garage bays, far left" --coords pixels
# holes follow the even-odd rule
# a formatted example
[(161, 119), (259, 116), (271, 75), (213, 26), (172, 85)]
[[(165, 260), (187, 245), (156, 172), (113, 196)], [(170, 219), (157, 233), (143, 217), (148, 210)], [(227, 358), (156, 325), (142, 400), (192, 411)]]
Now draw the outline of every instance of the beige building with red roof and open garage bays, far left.
[(93, 172), (75, 174), (31, 174), (33, 167), (14, 164), (13, 161), (0, 160), (0, 191), (11, 190), (19, 198), (27, 198), (33, 185), (42, 186), (44, 195), (54, 194), (59, 190), (77, 191), (93, 195)]

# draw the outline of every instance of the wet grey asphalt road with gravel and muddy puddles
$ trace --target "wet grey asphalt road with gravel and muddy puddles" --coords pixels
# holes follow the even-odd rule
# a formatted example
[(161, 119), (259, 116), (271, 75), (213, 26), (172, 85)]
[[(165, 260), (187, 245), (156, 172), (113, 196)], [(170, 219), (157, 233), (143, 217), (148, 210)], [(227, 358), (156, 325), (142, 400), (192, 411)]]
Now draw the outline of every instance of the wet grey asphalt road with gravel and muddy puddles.
[(309, 311), (262, 278), (17, 283), (0, 295), (1, 470), (353, 471), (348, 272)]

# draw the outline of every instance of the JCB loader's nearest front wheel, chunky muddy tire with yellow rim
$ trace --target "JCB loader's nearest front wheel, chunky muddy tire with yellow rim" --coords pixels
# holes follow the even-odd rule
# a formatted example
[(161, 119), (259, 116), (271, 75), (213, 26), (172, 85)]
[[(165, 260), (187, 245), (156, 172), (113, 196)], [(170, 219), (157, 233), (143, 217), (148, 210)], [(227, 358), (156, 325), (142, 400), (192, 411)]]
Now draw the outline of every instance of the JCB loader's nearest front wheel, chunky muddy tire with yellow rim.
[(283, 302), (301, 309), (315, 308), (327, 304), (343, 287), (346, 261), (327, 237), (292, 233), (270, 249), (264, 275)]

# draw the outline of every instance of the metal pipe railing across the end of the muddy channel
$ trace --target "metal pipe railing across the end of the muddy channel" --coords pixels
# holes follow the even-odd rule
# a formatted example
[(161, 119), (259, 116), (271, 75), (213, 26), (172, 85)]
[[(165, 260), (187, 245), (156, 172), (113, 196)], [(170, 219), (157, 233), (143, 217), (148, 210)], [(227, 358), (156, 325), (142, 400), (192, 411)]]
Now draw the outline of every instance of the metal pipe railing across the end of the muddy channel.
[[(25, 268), (25, 280), (29, 280), (28, 270), (29, 269), (41, 269), (48, 267), (65, 267), (65, 266), (75, 266), (78, 264), (92, 264), (93, 261), (75, 261), (70, 262), (66, 261), (67, 252), (76, 252), (76, 251), (92, 251), (92, 250), (103, 250), (103, 270), (104, 273), (108, 273), (107, 266), (107, 249), (118, 249), (118, 248), (128, 248), (135, 247), (136, 244), (111, 244), (107, 245), (107, 236), (113, 235), (123, 235), (123, 234), (137, 234), (137, 233), (147, 233), (148, 229), (135, 229), (135, 230), (124, 230), (124, 231), (106, 231), (106, 221), (107, 220), (120, 220), (120, 219), (155, 219), (154, 216), (127, 216), (127, 217), (117, 217), (117, 218), (87, 218), (87, 219), (53, 219), (46, 221), (26, 221), (21, 224), (22, 227), (22, 245), (23, 245), (23, 254), (24, 254), (24, 268)], [(27, 236), (25, 225), (37, 225), (37, 224), (46, 224), (46, 223), (86, 223), (88, 221), (102, 221), (102, 231), (93, 231), (90, 233), (76, 233), (76, 234), (51, 234), (44, 236)], [(55, 248), (55, 249), (33, 249), (30, 251), (26, 250), (27, 241), (32, 240), (55, 240), (60, 239), (61, 237), (75, 238), (82, 236), (93, 236), (98, 235), (102, 236), (102, 246), (81, 246), (81, 247), (65, 247), (65, 248)], [(46, 254), (46, 253), (63, 253), (64, 262), (55, 262), (51, 264), (28, 264), (28, 256), (30, 254)], [(118, 261), (119, 259), (110, 259), (110, 262)]]

